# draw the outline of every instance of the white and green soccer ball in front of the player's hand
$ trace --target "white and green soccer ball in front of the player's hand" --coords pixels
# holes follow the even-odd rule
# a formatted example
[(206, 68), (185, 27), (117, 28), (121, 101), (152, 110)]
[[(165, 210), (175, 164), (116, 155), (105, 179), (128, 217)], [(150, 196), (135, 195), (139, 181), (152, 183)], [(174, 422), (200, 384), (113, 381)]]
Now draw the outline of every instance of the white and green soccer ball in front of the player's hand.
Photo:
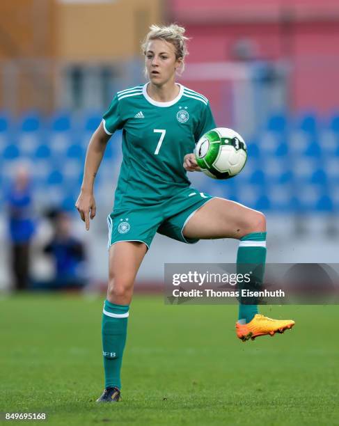
[(194, 154), (205, 175), (229, 179), (244, 168), (247, 148), (239, 133), (226, 127), (216, 127), (199, 139)]

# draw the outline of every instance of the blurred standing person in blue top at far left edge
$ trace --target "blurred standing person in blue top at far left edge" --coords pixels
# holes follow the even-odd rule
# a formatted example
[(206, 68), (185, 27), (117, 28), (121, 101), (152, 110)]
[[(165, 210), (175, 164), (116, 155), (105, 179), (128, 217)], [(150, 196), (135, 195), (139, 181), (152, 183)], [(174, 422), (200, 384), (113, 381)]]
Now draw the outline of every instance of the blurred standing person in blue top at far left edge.
[(15, 171), (7, 203), (14, 287), (15, 290), (26, 290), (29, 285), (30, 245), (36, 226), (29, 169), (23, 164)]

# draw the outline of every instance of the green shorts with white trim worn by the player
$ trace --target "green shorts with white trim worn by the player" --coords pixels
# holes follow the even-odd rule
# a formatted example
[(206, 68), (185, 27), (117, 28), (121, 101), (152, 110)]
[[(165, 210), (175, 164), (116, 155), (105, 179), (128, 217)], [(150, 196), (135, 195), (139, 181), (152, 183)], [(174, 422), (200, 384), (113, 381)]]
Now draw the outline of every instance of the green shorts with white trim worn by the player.
[(190, 217), (212, 198), (198, 189), (184, 188), (177, 195), (157, 205), (114, 209), (107, 216), (108, 247), (121, 241), (139, 241), (150, 248), (156, 232), (194, 244), (198, 239), (185, 238), (182, 230)]

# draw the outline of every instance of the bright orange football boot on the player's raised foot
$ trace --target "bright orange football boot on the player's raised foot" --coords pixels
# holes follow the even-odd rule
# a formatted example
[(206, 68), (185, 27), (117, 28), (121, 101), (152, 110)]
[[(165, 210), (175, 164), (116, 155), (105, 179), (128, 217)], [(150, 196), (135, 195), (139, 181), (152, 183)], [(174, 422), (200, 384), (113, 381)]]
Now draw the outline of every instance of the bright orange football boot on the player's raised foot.
[(237, 337), (243, 342), (250, 338), (254, 340), (258, 336), (269, 334), (274, 336), (275, 333), (283, 333), (287, 329), (292, 329), (295, 322), (292, 319), (271, 319), (264, 315), (255, 314), (254, 318), (247, 324), (235, 324)]

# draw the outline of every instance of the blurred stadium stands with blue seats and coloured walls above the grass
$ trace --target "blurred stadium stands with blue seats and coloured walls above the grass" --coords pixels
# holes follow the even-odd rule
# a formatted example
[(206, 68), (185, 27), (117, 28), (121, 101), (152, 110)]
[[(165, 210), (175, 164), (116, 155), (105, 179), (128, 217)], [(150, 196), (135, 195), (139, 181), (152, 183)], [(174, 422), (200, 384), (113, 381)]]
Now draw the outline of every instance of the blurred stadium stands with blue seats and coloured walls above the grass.
[[(152, 22), (179, 22), (191, 37), (180, 81), (210, 98), (216, 123), (249, 145), (239, 177), (202, 191), (268, 217), (269, 262), (336, 262), (339, 207), (339, 9), (336, 1), (39, 1), (0, 5), (1, 204), (15, 164), (31, 167), (38, 233), (32, 274), (52, 266), (40, 246), (47, 207), (72, 214), (86, 241), (91, 282), (107, 274), (106, 216), (120, 167), (115, 134), (95, 184), (90, 232), (74, 211), (90, 134), (116, 90), (140, 84), (140, 41)], [(0, 287), (10, 287), (6, 208), (0, 212)], [(164, 262), (232, 262), (235, 241), (189, 247), (157, 236), (138, 279), (159, 283)], [(322, 247), (321, 253), (319, 247)]]

